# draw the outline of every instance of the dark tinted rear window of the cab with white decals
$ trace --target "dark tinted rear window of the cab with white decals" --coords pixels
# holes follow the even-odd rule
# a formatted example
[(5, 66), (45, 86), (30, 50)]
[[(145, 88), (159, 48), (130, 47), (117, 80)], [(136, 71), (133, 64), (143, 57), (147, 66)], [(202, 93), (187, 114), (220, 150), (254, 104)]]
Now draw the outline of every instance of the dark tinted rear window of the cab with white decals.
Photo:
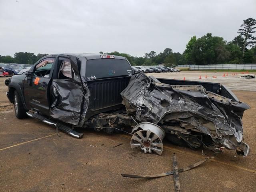
[(92, 59), (86, 62), (86, 80), (132, 76), (132, 68), (123, 59)]

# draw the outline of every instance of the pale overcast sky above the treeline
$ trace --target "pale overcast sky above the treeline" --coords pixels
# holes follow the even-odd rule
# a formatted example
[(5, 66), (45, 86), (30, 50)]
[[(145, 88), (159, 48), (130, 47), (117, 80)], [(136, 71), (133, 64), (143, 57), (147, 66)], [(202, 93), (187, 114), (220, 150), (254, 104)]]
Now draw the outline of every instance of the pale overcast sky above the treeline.
[(0, 0), (0, 55), (182, 53), (207, 32), (230, 41), (256, 0)]

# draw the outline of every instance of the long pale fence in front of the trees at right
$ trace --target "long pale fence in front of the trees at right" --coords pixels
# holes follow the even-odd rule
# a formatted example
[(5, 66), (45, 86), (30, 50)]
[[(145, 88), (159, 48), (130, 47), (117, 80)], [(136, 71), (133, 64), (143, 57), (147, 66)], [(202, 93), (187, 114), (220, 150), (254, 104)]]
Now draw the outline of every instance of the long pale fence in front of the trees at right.
[(190, 65), (190, 70), (256, 70), (256, 64)]

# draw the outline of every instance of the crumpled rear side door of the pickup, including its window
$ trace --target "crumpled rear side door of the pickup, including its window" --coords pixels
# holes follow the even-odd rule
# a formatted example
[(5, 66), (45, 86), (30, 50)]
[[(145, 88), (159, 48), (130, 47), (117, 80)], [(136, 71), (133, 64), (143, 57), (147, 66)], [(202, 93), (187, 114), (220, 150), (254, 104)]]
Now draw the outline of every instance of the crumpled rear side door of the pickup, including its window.
[(78, 125), (83, 110), (84, 89), (75, 56), (59, 55), (52, 79), (50, 116)]

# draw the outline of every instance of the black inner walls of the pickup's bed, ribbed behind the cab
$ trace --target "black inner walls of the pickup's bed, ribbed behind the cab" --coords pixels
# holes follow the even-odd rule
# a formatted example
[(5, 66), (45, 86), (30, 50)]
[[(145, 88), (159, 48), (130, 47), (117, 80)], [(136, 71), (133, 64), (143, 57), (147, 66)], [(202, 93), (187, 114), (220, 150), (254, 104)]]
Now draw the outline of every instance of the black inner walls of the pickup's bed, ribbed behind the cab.
[[(184, 81), (174, 79), (157, 78), (160, 82), (170, 85), (202, 85), (207, 91), (238, 101), (234, 93), (220, 83)], [(122, 107), (120, 93), (127, 87), (130, 77), (105, 78), (87, 81), (90, 90), (90, 103), (87, 118), (102, 112), (117, 110)]]

